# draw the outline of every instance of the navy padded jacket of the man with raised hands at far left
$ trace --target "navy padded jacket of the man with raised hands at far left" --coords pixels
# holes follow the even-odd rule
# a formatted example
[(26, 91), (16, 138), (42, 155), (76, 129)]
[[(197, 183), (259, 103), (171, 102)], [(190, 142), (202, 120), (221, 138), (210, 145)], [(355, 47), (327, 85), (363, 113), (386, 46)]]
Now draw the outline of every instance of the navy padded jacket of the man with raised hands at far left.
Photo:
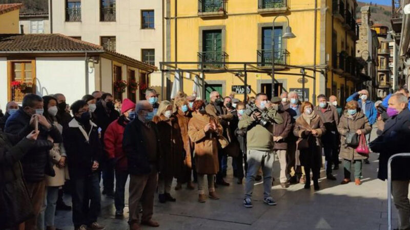
[[(30, 124), (31, 116), (24, 112), (23, 108), (19, 108), (12, 116), (7, 119), (5, 132), (10, 134), (18, 134), (27, 125)], [(43, 126), (38, 126), (40, 134), (35, 141), (35, 147), (22, 158), (22, 166), (24, 178), (28, 182), (42, 181), (46, 174), (54, 176), (54, 170), (50, 163), (49, 150), (53, 148), (53, 143), (47, 140), (50, 135), (54, 143), (63, 142), (58, 129), (53, 125), (50, 130), (46, 130)]]

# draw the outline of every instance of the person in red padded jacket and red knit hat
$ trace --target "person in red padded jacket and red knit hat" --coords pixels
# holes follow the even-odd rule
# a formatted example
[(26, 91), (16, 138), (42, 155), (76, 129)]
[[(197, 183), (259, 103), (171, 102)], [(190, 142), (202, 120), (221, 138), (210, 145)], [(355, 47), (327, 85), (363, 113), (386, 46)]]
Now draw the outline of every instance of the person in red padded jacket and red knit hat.
[(122, 115), (113, 121), (107, 128), (104, 135), (105, 150), (109, 159), (115, 159), (115, 217), (124, 216), (125, 184), (128, 178), (127, 156), (122, 151), (122, 135), (125, 126), (135, 118), (135, 103), (129, 99), (122, 102)]

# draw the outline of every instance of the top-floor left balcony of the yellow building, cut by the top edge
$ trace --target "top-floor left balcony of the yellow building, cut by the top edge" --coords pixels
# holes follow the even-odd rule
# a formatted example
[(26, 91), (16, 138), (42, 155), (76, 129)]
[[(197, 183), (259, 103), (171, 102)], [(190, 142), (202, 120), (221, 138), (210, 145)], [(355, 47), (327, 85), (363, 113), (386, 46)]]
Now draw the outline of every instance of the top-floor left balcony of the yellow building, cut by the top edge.
[(227, 0), (198, 0), (198, 16), (221, 17), (227, 13)]

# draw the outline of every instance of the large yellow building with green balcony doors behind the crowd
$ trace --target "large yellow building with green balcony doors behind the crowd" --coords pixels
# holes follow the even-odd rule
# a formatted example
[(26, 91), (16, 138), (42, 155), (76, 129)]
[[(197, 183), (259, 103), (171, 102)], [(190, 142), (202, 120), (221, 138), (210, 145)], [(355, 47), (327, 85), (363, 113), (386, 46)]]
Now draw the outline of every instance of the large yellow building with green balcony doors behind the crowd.
[[(250, 96), (262, 91), (270, 97), (273, 20), (286, 15), (296, 38), (282, 39), (288, 22), (278, 17), (274, 26), (275, 63), (292, 66), (275, 64), (275, 95), (290, 90), (301, 95), (300, 67), (305, 67), (317, 70), (305, 70), (307, 76), (315, 77), (305, 80), (306, 100), (333, 94), (344, 101), (359, 81), (353, 58), (356, 7), (355, 0), (171, 0), (165, 12), (166, 61), (177, 63), (162, 67), (184, 72), (183, 90), (190, 95), (194, 76), (199, 75), (194, 70), (201, 66), (181, 62), (264, 62), (248, 65), (248, 71), (265, 73), (248, 73), (247, 82)], [(205, 73), (207, 99), (212, 90), (227, 96), (244, 85), (243, 64), (203, 67), (221, 70)], [(170, 95), (173, 79), (173, 74), (166, 76), (167, 92), (163, 94)], [(237, 94), (237, 98), (243, 99), (243, 95)]]

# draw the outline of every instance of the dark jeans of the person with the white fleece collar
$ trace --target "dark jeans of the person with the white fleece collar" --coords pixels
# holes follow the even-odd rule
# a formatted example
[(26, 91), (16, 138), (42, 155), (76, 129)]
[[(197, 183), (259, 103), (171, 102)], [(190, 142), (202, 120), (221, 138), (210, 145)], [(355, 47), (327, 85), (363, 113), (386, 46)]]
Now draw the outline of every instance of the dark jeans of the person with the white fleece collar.
[(96, 222), (101, 210), (98, 173), (94, 172), (83, 178), (73, 178), (71, 181), (74, 226)]

